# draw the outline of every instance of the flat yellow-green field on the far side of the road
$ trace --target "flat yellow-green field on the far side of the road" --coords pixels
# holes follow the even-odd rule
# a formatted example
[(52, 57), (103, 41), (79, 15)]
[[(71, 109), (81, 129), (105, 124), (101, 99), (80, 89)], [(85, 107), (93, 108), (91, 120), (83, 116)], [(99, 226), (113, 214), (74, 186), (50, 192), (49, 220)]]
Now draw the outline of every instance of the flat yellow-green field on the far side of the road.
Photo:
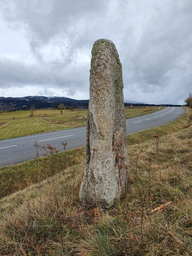
[[(152, 113), (157, 107), (126, 108), (126, 118)], [(87, 110), (30, 110), (0, 113), (0, 139), (22, 137), (48, 131), (82, 127), (87, 122)]]

